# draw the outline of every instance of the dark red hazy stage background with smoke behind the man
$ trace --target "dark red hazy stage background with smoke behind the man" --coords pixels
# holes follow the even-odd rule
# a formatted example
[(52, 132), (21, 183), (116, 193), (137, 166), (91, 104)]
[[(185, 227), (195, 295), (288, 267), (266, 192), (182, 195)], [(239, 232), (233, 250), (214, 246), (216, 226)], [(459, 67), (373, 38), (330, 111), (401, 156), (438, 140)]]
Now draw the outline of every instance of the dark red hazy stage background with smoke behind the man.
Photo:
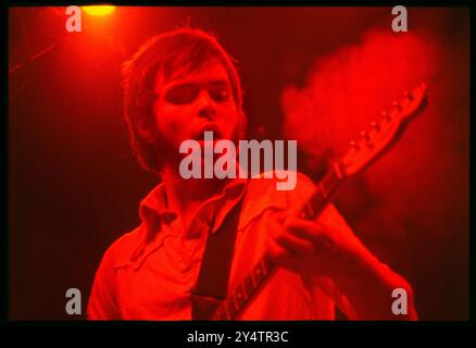
[[(410, 8), (408, 34), (392, 34), (392, 18), (391, 8), (118, 8), (84, 13), (70, 34), (64, 8), (11, 8), (10, 318), (85, 318), (65, 313), (66, 289), (82, 290), (85, 313), (102, 253), (139, 223), (158, 182), (129, 149), (121, 64), (151, 35), (189, 25), (238, 60), (250, 138), (298, 139), (298, 166), (315, 181), (371, 121), (364, 113), (430, 78), (426, 114), (336, 206), (411, 282), (421, 319), (466, 320), (469, 14)], [(391, 47), (413, 55), (392, 60)]]

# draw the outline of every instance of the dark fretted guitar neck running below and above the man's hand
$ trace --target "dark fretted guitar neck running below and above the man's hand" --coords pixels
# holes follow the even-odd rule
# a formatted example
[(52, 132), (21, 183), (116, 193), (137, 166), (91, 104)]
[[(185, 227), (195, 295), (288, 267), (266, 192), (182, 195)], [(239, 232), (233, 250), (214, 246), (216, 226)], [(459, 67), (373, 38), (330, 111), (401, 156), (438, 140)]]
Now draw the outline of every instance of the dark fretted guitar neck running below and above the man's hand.
[[(311, 197), (301, 206), (298, 215), (302, 219), (316, 219), (330, 202), (343, 181), (339, 164), (335, 164), (323, 177)], [(258, 295), (276, 270), (272, 257), (265, 252), (252, 271), (231, 294), (217, 307), (212, 320), (233, 320)]]

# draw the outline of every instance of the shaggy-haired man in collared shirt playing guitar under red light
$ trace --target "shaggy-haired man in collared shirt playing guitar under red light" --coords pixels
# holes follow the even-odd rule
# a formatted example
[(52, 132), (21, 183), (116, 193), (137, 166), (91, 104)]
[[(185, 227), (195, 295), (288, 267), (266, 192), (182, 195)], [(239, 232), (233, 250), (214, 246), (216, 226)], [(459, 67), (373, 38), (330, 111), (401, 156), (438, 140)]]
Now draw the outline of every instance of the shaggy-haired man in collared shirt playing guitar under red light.
[[(411, 286), (380, 263), (329, 206), (317, 221), (290, 213), (313, 191), (268, 178), (190, 178), (179, 173), (179, 146), (203, 133), (245, 137), (239, 76), (216, 39), (198, 29), (153, 37), (125, 64), (125, 113), (141, 164), (162, 183), (141, 202), (141, 224), (118, 238), (97, 271), (88, 318), (190, 320), (191, 294), (210, 235), (239, 207), (228, 288), (268, 251), (277, 272), (239, 313), (242, 320), (416, 319)], [(392, 312), (394, 289), (406, 312)]]

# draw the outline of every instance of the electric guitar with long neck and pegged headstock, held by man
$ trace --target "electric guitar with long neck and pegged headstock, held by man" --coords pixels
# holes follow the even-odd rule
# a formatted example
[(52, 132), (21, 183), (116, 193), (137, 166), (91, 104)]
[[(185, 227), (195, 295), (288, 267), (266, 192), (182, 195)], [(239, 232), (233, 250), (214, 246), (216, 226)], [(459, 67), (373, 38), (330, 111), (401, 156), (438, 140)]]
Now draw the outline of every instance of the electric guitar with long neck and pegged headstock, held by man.
[[(423, 83), (412, 91), (405, 91), (400, 101), (394, 101), (388, 112), (383, 112), (378, 122), (371, 123), (368, 132), (362, 132), (356, 141), (350, 142), (347, 153), (334, 165), (317, 185), (315, 191), (298, 210), (302, 219), (316, 219), (335, 197), (345, 179), (364, 170), (389, 150), (403, 133), (412, 116), (426, 105), (427, 84)], [(266, 252), (252, 268), (245, 279), (226, 297), (210, 320), (233, 320), (251, 302), (263, 285), (272, 276), (276, 266)]]

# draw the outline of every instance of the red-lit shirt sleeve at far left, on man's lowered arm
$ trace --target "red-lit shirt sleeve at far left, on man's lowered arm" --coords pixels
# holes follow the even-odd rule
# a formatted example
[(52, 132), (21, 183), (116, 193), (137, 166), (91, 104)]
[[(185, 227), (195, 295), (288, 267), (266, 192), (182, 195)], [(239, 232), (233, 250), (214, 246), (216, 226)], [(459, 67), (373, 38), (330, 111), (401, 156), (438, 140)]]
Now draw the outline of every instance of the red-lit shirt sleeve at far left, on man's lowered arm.
[(121, 319), (114, 294), (114, 245), (102, 257), (88, 301), (88, 320)]

